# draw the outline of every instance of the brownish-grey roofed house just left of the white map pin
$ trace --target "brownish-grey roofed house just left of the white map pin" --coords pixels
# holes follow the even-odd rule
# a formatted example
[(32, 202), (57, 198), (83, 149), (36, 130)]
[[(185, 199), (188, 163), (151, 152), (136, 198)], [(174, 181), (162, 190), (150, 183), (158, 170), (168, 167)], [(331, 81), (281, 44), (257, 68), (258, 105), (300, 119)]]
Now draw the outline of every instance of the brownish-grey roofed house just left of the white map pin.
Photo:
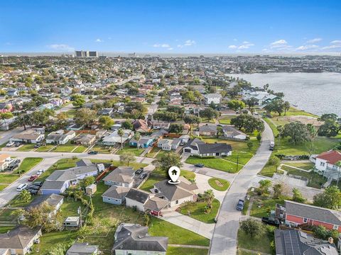
[(104, 177), (104, 184), (131, 188), (134, 184), (135, 171), (129, 166), (119, 166)]

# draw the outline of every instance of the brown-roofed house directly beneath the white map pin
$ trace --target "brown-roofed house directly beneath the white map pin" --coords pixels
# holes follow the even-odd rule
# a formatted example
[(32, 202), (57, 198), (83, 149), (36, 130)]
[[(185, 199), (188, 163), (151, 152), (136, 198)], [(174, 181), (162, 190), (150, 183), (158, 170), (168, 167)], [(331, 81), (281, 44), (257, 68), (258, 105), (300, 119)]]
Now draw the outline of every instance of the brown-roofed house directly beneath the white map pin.
[(154, 184), (153, 193), (158, 198), (168, 201), (169, 208), (188, 201), (195, 202), (197, 200), (197, 185), (191, 183), (183, 176), (180, 176), (178, 181), (180, 183), (177, 185), (168, 183), (168, 180), (159, 181)]

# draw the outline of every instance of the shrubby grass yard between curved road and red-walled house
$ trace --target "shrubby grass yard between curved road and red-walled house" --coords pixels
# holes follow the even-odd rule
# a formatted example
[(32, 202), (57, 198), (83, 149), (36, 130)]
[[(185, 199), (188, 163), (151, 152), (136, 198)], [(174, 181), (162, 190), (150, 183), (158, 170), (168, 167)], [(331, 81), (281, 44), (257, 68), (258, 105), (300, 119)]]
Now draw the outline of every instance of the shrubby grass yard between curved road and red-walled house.
[(250, 215), (253, 217), (268, 217), (270, 211), (275, 209), (276, 203), (283, 205), (285, 199), (290, 200), (290, 198), (284, 196), (281, 198), (272, 198), (270, 196), (254, 197)]

